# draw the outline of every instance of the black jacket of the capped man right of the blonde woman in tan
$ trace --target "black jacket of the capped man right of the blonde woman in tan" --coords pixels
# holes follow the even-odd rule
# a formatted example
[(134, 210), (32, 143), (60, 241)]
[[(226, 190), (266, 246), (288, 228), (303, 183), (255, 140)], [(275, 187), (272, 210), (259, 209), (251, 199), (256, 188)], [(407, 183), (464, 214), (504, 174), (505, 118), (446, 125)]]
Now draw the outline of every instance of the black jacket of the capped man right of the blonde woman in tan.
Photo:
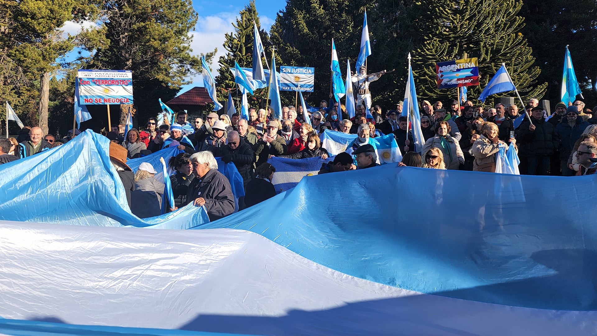
[(518, 130), (518, 155), (529, 157), (535, 155), (552, 155), (558, 148), (559, 138), (556, 129), (552, 123), (543, 119), (543, 117), (533, 118), (535, 130), (528, 129), (531, 124), (528, 119), (523, 121)]

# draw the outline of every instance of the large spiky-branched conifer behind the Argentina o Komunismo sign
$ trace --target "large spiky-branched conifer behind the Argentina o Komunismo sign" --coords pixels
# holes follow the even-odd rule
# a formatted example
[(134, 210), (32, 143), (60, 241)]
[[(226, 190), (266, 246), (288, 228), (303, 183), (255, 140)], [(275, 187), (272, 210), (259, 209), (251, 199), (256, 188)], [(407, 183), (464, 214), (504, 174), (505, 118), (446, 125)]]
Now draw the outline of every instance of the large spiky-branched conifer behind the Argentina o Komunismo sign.
[[(524, 18), (518, 16), (522, 3), (514, 0), (426, 0), (427, 13), (418, 20), (423, 44), (413, 53), (417, 93), (426, 99), (456, 98), (453, 91), (438, 90), (435, 63), (477, 57), (480, 85), (469, 86), (469, 97), (478, 97), (485, 85), (506, 63), (510, 76), (526, 101), (543, 97), (547, 83), (537, 85), (541, 70), (534, 66), (532, 50), (520, 30)], [(490, 96), (510, 96), (503, 93)]]

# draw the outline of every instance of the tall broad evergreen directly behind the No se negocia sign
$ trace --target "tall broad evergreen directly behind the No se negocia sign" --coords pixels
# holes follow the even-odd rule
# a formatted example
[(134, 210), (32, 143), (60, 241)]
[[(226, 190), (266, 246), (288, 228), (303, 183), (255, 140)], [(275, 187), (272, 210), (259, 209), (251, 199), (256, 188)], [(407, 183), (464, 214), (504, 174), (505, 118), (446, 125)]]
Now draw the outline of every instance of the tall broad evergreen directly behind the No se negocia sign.
[[(201, 71), (201, 59), (190, 48), (197, 21), (190, 0), (107, 0), (97, 19), (100, 28), (84, 36), (85, 48), (94, 52), (88, 68), (133, 71), (137, 117), (155, 115), (158, 98), (171, 99)], [(121, 123), (127, 112), (121, 105)]]

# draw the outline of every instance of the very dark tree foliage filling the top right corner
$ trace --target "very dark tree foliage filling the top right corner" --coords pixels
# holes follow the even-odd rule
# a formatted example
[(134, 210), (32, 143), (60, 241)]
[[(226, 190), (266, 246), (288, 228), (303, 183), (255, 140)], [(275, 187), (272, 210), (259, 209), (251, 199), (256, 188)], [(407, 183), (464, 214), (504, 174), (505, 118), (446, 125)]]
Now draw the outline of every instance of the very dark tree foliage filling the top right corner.
[[(555, 103), (561, 99), (564, 52), (570, 45), (574, 71), (587, 102), (597, 100), (597, 2), (578, 0), (525, 0), (520, 14), (525, 17), (522, 32), (533, 48), (536, 64), (541, 66), (539, 82), (547, 82), (545, 98)], [(593, 89), (590, 86), (593, 85)], [(593, 108), (593, 105), (590, 106)]]

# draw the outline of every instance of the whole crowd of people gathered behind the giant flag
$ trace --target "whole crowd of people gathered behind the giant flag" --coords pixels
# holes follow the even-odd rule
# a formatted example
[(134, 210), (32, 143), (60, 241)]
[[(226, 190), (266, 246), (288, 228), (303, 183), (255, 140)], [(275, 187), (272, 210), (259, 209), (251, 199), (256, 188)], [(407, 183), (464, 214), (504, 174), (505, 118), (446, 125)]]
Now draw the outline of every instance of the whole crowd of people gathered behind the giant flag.
[[(415, 151), (413, 132), (407, 117), (402, 116), (401, 103), (385, 113), (380, 106), (373, 106), (369, 115), (365, 106), (359, 104), (355, 117), (346, 119), (344, 105), (334, 103), (328, 108), (325, 100), (312, 114), (301, 106), (284, 106), (281, 120), (273, 118), (270, 108), (250, 108), (248, 120), (238, 114), (229, 117), (211, 112), (205, 120), (196, 117), (187, 121), (187, 114), (182, 111), (174, 124), (158, 126), (157, 118), (149, 118), (141, 130), (133, 128), (124, 134), (124, 125), (119, 125), (106, 137), (110, 140), (110, 159), (135, 215), (159, 215), (165, 185), (155, 178), (157, 172), (150, 164), (141, 164), (133, 174), (127, 160), (177, 146), (181, 153), (168, 161), (174, 171), (170, 176), (174, 204), (169, 204), (168, 210), (193, 203), (205, 206), (210, 219), (215, 220), (235, 210), (230, 182), (217, 171), (216, 157), (223, 163), (233, 163), (242, 176), (245, 197), (238, 200), (238, 206), (244, 209), (276, 194), (272, 185), (276, 168), (267, 162), (269, 158), (330, 157), (319, 138), (327, 130), (355, 134), (356, 139), (347, 146), (347, 152), (323, 163), (319, 174), (378, 166), (376, 150), (369, 139), (390, 133), (403, 154), (399, 166), (496, 172), (500, 148), (510, 148), (518, 152), (523, 174), (594, 174), (597, 116), (593, 117), (580, 100), (558, 103), (549, 116), (544, 110), (537, 99), (531, 99), (525, 106), (528, 118), (516, 127), (516, 120), (521, 117), (516, 105), (498, 103), (485, 109), (471, 101), (460, 106), (454, 100), (446, 109), (440, 101), (432, 105), (423, 100), (422, 155)], [(78, 134), (78, 130), (70, 131), (57, 140), (53, 135), (44, 135), (39, 127), (23, 129), (21, 139), (0, 139), (0, 164), (60, 146)]]

